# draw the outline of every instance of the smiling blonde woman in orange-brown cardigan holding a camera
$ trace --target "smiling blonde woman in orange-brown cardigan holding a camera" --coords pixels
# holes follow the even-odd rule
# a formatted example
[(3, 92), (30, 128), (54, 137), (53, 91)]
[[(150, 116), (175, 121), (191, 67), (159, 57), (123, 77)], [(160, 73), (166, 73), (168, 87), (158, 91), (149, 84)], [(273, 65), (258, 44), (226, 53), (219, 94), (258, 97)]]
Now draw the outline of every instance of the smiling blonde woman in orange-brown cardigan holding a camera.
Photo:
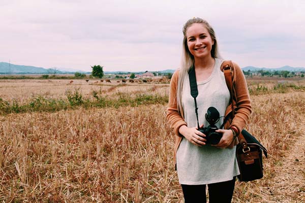
[[(236, 136), (251, 114), (251, 103), (245, 77), (234, 64), (233, 85), (237, 95), (234, 118), (217, 132), (222, 138), (217, 145), (207, 145), (205, 134), (198, 130), (195, 102), (190, 93), (189, 70), (195, 69), (198, 87), (197, 107), (200, 127), (208, 126), (205, 113), (215, 107), (220, 116), (231, 111), (230, 92), (221, 71), (223, 60), (218, 53), (215, 32), (201, 18), (187, 21), (183, 28), (181, 68), (171, 79), (167, 119), (175, 132), (174, 161), (185, 202), (231, 202), (235, 177), (239, 175), (235, 158)], [(216, 123), (218, 128), (224, 117)]]

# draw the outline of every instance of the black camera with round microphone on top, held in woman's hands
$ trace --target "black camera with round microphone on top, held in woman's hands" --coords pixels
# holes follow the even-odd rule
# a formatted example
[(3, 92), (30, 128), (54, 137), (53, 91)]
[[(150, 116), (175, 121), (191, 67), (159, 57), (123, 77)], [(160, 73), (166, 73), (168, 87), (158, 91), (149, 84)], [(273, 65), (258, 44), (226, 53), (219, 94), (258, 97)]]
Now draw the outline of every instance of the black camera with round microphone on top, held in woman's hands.
[(206, 144), (216, 145), (222, 138), (222, 133), (215, 132), (218, 127), (215, 125), (219, 121), (219, 112), (214, 107), (209, 107), (207, 113), (205, 114), (205, 119), (209, 123), (209, 126), (199, 128), (198, 130), (205, 134)]

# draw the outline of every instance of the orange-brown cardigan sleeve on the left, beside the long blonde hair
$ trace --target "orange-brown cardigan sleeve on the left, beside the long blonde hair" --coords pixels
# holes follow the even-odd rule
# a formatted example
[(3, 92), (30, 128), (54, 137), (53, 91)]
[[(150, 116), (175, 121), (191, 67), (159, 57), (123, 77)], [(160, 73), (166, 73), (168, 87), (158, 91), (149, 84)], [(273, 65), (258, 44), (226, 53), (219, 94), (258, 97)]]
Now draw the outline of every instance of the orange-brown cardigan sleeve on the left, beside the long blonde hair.
[(179, 76), (179, 71), (177, 70), (173, 74), (170, 81), (170, 91), (169, 91), (166, 118), (170, 124), (170, 127), (174, 129), (176, 136), (182, 137), (182, 134), (179, 133), (179, 128), (182, 125), (187, 125), (187, 123), (185, 122), (184, 118), (182, 118), (181, 114), (178, 111), (178, 105), (177, 105), (178, 76)]

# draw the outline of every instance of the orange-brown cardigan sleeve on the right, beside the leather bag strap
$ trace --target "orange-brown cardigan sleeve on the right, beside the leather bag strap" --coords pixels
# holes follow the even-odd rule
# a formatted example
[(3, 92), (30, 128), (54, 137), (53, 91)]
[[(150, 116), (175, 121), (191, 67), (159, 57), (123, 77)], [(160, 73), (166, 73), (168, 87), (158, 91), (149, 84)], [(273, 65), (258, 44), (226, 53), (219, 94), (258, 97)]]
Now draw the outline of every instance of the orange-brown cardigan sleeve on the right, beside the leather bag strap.
[(237, 127), (238, 133), (240, 133), (242, 128), (246, 126), (246, 123), (249, 120), (252, 107), (246, 78), (243, 75), (240, 67), (236, 63), (233, 64), (235, 69), (233, 85), (236, 92), (236, 107), (231, 125)]

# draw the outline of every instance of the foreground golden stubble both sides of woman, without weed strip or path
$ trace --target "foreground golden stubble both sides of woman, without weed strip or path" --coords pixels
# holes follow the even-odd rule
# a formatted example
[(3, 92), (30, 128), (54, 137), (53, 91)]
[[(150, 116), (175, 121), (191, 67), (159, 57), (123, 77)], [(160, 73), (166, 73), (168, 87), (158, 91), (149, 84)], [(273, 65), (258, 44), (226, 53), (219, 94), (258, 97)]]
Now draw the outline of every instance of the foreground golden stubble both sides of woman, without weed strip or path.
[[(282, 156), (304, 133), (305, 95), (297, 90), (251, 98), (247, 129), (269, 158), (263, 179), (236, 182), (233, 202), (286, 202), (276, 197), (273, 179), (285, 164)], [(0, 116), (0, 200), (183, 202), (165, 111), (166, 105), (141, 105)], [(302, 190), (291, 192), (300, 196)]]

